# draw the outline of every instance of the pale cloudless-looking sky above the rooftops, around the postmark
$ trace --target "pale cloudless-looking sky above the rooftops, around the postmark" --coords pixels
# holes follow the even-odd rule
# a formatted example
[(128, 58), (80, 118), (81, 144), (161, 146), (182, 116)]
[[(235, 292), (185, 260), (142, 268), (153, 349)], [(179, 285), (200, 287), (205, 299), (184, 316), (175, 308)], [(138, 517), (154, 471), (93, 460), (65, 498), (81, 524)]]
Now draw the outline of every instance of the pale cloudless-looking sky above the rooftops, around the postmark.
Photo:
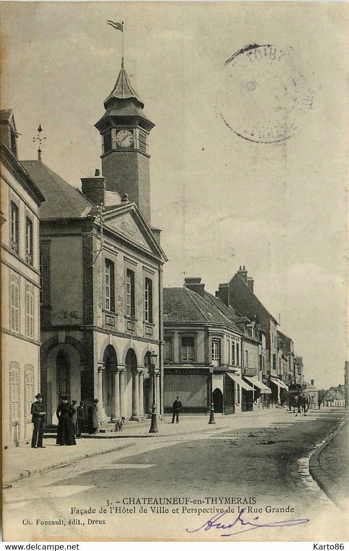
[[(347, 5), (3, 2), (1, 19), (1, 106), (14, 111), (19, 158), (36, 158), (40, 123), (43, 162), (75, 187), (101, 166), (94, 124), (122, 46), (106, 20), (124, 21), (125, 66), (156, 125), (151, 208), (169, 259), (165, 287), (201, 277), (215, 293), (245, 265), (255, 294), (303, 356), (306, 379), (318, 388), (343, 383)], [(292, 48), (296, 61), (276, 73), (264, 61), (247, 76), (244, 64), (227, 67), (248, 44)], [(275, 114), (275, 89), (295, 67), (296, 90), (305, 83), (312, 106), (287, 115), (297, 121), (292, 136), (257, 143), (233, 132), (235, 117), (249, 129), (254, 117)], [(237, 87), (244, 79), (249, 106)]]

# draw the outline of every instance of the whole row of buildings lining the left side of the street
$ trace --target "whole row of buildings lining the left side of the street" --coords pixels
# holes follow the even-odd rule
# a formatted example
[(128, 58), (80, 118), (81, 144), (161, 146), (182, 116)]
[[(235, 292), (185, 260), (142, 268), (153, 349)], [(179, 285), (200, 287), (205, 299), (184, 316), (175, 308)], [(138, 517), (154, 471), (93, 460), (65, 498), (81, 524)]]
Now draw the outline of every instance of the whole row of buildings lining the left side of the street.
[(215, 295), (200, 278), (163, 289), (167, 261), (151, 224), (145, 115), (123, 66), (96, 123), (101, 171), (81, 191), (37, 159), (18, 159), (13, 112), (1, 112), (4, 446), (28, 441), (30, 404), (47, 424), (63, 394), (99, 398), (101, 423), (167, 412), (217, 413), (282, 403), (303, 384), (292, 339), (240, 267)]

